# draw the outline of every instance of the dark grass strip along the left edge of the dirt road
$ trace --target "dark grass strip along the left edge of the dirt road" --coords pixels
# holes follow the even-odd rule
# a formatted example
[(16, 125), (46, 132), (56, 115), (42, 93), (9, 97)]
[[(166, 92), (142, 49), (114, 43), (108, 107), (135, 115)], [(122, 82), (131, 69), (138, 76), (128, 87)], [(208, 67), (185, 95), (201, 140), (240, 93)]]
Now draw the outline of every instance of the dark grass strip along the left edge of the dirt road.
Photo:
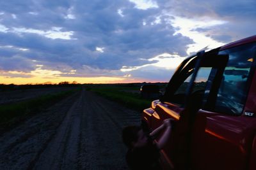
[(74, 94), (74, 92), (77, 92), (79, 89), (81, 88), (47, 94), (33, 99), (20, 101), (19, 103), (0, 105), (0, 130), (11, 127), (22, 120), (25, 120), (27, 116), (31, 116), (52, 106), (61, 99)]

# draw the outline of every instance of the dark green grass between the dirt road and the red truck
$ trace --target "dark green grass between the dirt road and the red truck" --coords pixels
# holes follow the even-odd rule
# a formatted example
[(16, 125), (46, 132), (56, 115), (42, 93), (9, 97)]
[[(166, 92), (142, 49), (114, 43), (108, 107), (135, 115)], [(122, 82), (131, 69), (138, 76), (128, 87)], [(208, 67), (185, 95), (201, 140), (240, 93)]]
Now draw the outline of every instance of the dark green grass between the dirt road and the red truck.
[(100, 96), (116, 101), (134, 110), (143, 111), (150, 106), (152, 99), (141, 97), (140, 87), (141, 83), (86, 85), (86, 90), (91, 90)]

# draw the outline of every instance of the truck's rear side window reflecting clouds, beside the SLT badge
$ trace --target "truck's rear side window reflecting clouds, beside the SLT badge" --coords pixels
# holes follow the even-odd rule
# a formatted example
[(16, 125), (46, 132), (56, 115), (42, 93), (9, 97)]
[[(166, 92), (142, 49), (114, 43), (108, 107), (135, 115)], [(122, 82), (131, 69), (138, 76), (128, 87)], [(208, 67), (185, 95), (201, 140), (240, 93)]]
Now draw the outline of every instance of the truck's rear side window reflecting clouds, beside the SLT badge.
[(255, 59), (255, 49), (255, 43), (251, 43), (219, 52), (227, 54), (229, 59), (212, 111), (233, 115), (240, 115), (243, 112), (252, 80), (250, 71)]

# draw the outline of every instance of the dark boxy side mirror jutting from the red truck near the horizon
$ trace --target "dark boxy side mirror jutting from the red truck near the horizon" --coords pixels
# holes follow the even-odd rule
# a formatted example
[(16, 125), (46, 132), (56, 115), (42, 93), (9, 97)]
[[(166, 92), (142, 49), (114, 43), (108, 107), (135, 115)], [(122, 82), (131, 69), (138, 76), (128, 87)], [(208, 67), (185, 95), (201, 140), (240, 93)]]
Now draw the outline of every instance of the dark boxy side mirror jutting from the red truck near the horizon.
[(145, 84), (140, 87), (141, 97), (145, 99), (159, 99), (161, 92), (158, 85)]

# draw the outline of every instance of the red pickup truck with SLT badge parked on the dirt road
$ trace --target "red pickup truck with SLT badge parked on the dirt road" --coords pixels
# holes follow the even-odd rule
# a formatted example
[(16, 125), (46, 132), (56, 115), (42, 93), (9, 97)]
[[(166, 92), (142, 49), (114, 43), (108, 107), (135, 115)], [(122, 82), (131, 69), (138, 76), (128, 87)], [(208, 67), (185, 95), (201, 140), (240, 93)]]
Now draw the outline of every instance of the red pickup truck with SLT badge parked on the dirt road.
[(145, 131), (175, 120), (161, 150), (164, 169), (256, 169), (255, 66), (256, 36), (180, 64), (141, 117)]

